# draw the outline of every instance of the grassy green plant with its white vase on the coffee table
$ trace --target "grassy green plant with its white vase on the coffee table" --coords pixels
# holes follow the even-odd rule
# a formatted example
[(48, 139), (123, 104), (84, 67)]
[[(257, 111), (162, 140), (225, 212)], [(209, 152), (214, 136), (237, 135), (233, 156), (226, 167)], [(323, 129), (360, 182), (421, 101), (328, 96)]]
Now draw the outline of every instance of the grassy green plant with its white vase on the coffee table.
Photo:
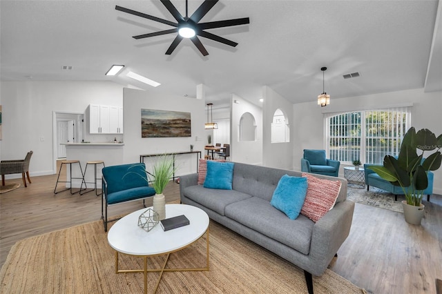
[(151, 174), (152, 187), (155, 189), (153, 210), (158, 213), (158, 219), (155, 220), (160, 221), (166, 218), (166, 199), (163, 191), (176, 170), (173, 155), (161, 155), (157, 157), (155, 164), (153, 164), (153, 173)]

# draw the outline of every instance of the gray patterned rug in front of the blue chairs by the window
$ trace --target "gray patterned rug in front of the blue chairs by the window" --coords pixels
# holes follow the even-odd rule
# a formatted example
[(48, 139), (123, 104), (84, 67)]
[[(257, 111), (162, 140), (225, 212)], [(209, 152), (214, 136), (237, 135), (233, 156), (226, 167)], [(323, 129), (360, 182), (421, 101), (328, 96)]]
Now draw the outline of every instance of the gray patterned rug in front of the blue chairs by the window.
[(403, 213), (401, 202), (405, 200), (405, 196), (398, 195), (398, 201), (394, 201), (394, 195), (392, 193), (376, 187), (370, 187), (369, 191), (367, 191), (367, 188), (348, 187), (347, 198), (356, 203), (393, 210), (398, 213)]

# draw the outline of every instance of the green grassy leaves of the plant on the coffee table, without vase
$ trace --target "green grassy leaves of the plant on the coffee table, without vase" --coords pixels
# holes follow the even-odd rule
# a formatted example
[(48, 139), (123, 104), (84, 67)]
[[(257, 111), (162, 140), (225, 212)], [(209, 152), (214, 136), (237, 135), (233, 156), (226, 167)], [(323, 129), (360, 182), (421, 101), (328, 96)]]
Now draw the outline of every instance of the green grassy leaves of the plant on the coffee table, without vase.
[(153, 165), (153, 179), (151, 179), (155, 193), (163, 193), (164, 188), (166, 188), (176, 170), (177, 167), (173, 164), (172, 155), (161, 155), (157, 157)]

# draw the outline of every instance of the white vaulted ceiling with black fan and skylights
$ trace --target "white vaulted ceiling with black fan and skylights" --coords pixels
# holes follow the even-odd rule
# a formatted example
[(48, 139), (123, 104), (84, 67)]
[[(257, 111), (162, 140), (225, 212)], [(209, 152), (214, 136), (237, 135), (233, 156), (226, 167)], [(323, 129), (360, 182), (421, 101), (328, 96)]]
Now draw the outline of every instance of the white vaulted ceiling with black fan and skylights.
[[(183, 15), (185, 1), (172, 0)], [(191, 14), (202, 0), (189, 0)], [(439, 1), (220, 0), (200, 22), (249, 17), (250, 24), (208, 30), (236, 48), (189, 39), (164, 55), (175, 34), (135, 40), (171, 26), (115, 10), (115, 5), (175, 21), (160, 1), (0, 1), (1, 79), (115, 81), (150, 88), (129, 70), (159, 81), (150, 88), (227, 104), (235, 93), (258, 104), (263, 85), (293, 103), (424, 88), (442, 90)], [(439, 4), (442, 6), (442, 4)], [(439, 14), (441, 8), (439, 8)], [(434, 31), (436, 33), (434, 34)], [(126, 67), (117, 77), (112, 64)], [(61, 70), (72, 66), (72, 70)], [(343, 79), (359, 72), (361, 77)], [(427, 75), (428, 72), (428, 75)]]

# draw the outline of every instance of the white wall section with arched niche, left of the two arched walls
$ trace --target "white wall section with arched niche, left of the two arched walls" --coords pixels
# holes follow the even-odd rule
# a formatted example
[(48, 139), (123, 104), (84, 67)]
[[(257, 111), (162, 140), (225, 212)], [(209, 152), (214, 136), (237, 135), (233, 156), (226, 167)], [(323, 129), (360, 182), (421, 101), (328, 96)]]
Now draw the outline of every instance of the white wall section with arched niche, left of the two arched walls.
[[(237, 100), (240, 103), (236, 104)], [(255, 118), (255, 141), (238, 141), (240, 119), (245, 112)], [(262, 165), (262, 109), (237, 95), (231, 98), (231, 161)]]

